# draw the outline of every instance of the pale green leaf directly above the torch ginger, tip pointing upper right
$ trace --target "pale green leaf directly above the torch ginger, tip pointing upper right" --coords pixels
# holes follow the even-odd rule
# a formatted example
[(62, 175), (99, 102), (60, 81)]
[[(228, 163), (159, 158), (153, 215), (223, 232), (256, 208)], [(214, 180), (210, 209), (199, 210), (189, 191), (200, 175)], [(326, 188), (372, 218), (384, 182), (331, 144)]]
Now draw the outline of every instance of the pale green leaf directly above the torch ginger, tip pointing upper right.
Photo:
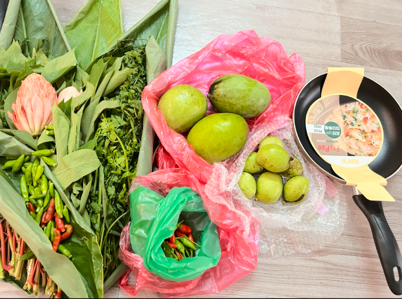
[(77, 65), (74, 50), (71, 50), (63, 56), (54, 58), (49, 61), (42, 70), (42, 76), (50, 83), (55, 83), (60, 77)]

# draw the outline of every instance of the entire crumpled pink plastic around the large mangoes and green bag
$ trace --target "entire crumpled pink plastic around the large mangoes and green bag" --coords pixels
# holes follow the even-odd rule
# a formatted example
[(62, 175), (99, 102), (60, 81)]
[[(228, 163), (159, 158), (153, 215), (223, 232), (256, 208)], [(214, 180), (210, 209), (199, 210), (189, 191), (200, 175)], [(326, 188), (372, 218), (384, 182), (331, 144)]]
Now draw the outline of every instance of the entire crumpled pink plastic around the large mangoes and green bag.
[[(168, 297), (217, 293), (249, 274), (257, 265), (259, 222), (227, 190), (224, 176), (219, 174), (227, 172), (227, 168), (222, 163), (210, 165), (198, 156), (183, 135), (168, 127), (157, 108), (159, 98), (172, 86), (190, 84), (206, 95), (209, 85), (217, 77), (230, 73), (254, 78), (270, 91), (269, 107), (261, 115), (247, 119), (252, 130), (268, 120), (279, 126), (278, 121), (291, 116), (294, 101), (304, 84), (305, 68), (299, 55), (294, 53), (287, 57), (279, 42), (258, 37), (254, 31), (248, 30), (219, 35), (145, 87), (142, 104), (162, 144), (157, 155), (161, 170), (136, 178), (132, 187), (140, 183), (162, 194), (173, 186), (190, 186), (197, 191), (210, 219), (218, 226), (222, 255), (218, 266), (196, 280), (166, 282), (148, 272), (142, 260), (130, 252), (126, 228), (121, 237), (120, 259), (130, 266), (136, 282), (135, 286), (130, 285), (126, 273), (120, 279), (120, 286), (130, 295), (136, 295), (140, 289)], [(208, 103), (207, 114), (215, 112)], [(208, 181), (214, 181), (213, 187), (207, 186)]]

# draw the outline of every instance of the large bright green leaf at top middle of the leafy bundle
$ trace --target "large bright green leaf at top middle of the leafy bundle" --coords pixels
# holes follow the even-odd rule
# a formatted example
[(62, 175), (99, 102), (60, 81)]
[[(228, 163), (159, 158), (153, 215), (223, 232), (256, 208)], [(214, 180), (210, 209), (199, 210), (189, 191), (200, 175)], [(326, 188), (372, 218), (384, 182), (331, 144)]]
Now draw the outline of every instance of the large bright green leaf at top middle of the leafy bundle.
[(86, 69), (123, 34), (120, 0), (87, 0), (64, 31)]

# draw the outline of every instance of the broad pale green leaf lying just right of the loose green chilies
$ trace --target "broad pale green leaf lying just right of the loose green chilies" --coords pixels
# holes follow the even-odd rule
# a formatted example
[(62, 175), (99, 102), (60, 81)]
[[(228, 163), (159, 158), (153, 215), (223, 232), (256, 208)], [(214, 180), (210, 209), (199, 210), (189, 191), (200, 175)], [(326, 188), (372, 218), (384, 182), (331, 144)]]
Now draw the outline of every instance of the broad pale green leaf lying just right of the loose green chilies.
[(87, 149), (74, 151), (58, 161), (59, 165), (54, 168), (53, 174), (64, 189), (100, 166), (96, 152)]

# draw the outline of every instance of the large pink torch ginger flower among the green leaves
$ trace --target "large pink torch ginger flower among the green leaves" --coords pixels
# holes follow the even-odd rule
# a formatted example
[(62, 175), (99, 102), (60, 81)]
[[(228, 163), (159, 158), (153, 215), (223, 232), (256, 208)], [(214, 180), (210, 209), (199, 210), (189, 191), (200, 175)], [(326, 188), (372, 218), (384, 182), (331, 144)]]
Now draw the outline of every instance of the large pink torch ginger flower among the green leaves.
[(53, 119), (51, 106), (57, 101), (53, 86), (39, 74), (31, 74), (22, 81), (17, 93), (17, 100), (12, 104), (13, 120), (18, 130), (24, 130), (32, 136), (38, 136)]

